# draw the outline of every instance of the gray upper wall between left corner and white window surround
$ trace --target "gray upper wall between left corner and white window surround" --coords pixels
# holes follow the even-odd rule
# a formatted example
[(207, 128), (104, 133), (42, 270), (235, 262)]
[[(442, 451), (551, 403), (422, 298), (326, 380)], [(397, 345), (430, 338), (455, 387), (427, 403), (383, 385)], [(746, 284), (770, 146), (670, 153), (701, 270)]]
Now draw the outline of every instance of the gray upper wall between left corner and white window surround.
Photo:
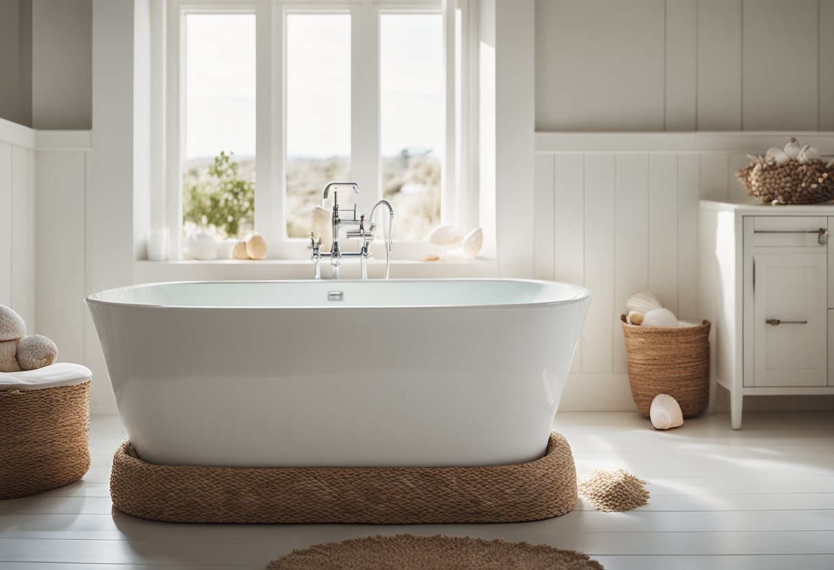
[(91, 0), (33, 0), (32, 126), (93, 127)]

